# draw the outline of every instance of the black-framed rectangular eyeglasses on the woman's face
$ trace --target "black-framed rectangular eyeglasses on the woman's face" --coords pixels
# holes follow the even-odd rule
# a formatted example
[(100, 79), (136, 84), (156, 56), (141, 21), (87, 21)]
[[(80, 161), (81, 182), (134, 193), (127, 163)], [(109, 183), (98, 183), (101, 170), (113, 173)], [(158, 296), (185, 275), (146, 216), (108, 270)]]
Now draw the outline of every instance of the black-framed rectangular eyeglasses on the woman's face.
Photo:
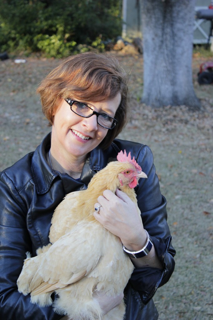
[(93, 115), (97, 116), (97, 123), (106, 129), (113, 129), (117, 125), (117, 120), (104, 113), (94, 111), (83, 102), (71, 100), (70, 98), (64, 99), (69, 105), (71, 110), (78, 116), (89, 118)]

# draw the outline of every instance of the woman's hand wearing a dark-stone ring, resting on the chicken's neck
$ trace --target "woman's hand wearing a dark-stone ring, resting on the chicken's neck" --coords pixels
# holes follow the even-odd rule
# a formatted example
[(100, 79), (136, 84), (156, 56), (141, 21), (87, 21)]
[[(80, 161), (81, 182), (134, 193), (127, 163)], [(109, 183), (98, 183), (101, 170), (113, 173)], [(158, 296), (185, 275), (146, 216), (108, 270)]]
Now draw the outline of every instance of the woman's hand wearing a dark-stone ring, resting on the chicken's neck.
[[(122, 244), (130, 251), (137, 251), (146, 244), (146, 233), (143, 228), (138, 207), (126, 193), (117, 189), (115, 195), (105, 190), (98, 197), (101, 205), (94, 217), (111, 233), (118, 236)], [(96, 204), (95, 207), (98, 205)]]

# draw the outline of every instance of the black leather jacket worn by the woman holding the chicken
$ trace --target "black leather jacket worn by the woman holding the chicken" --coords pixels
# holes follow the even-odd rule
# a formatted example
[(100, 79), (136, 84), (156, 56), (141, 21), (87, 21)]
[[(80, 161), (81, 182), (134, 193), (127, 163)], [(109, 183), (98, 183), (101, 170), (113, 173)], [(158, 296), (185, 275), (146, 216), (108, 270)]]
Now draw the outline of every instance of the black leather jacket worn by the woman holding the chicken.
[(133, 271), (125, 289), (126, 319), (157, 319), (152, 297), (156, 289), (169, 280), (174, 270), (175, 251), (170, 245), (166, 200), (160, 192), (150, 149), (123, 140), (114, 140), (105, 151), (97, 147), (84, 164), (80, 182), (51, 169), (46, 160), (49, 148), (50, 134), (35, 152), (0, 175), (0, 319), (56, 320), (62, 317), (54, 313), (52, 307), (39, 308), (30, 303), (29, 295), (17, 291), (16, 281), (23, 260), (27, 251), (35, 256), (38, 247), (49, 243), (52, 214), (64, 196), (87, 188), (91, 177), (109, 161), (116, 160), (118, 152), (124, 149), (127, 153), (131, 151), (148, 176), (148, 179), (139, 180), (135, 190), (144, 228), (152, 237), (164, 266), (164, 270), (144, 267)]

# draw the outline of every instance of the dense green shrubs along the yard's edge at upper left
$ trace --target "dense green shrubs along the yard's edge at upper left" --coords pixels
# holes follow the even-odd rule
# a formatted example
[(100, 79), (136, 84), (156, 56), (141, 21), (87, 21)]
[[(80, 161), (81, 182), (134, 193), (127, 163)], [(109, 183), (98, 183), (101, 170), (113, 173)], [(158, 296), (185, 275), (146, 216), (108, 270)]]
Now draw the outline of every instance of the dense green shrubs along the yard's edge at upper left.
[(103, 51), (102, 40), (121, 35), (121, 6), (122, 0), (1, 0), (0, 52)]

